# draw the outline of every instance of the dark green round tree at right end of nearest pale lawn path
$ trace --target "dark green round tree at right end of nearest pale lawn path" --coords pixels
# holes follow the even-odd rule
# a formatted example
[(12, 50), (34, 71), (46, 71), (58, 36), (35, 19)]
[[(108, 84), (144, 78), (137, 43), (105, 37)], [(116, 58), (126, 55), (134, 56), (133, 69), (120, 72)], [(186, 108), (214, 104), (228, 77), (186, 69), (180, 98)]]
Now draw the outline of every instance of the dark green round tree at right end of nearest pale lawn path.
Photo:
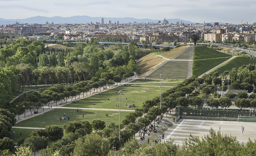
[(63, 129), (57, 125), (46, 126), (46, 132), (49, 134), (49, 139), (51, 141), (57, 141), (63, 137)]

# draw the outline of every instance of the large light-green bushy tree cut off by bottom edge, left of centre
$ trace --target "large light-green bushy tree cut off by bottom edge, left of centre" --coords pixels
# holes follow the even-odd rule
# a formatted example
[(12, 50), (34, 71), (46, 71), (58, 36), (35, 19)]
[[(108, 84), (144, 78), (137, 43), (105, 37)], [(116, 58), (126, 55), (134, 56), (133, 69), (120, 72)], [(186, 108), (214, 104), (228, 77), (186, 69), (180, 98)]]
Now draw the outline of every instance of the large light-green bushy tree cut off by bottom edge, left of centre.
[[(93, 148), (92, 148), (93, 147)], [(98, 133), (87, 134), (75, 141), (75, 156), (106, 156), (109, 153), (110, 145), (107, 139)]]

